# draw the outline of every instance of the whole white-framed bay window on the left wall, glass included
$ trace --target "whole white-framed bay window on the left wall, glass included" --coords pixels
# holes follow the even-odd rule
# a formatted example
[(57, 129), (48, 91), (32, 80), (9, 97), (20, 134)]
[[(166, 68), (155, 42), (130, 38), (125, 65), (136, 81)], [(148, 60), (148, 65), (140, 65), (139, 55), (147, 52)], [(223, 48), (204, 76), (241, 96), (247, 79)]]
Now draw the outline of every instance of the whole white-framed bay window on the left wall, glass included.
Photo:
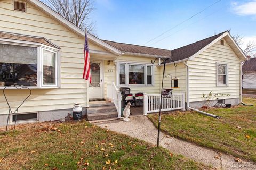
[(58, 87), (59, 49), (0, 42), (0, 86)]

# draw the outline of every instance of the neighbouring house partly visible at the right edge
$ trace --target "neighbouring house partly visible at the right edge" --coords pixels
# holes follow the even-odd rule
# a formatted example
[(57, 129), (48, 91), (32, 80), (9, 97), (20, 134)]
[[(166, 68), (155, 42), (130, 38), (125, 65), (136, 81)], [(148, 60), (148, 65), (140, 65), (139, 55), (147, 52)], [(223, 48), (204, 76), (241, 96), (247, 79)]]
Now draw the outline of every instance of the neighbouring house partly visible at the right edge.
[(248, 58), (242, 66), (244, 89), (256, 89), (256, 58)]

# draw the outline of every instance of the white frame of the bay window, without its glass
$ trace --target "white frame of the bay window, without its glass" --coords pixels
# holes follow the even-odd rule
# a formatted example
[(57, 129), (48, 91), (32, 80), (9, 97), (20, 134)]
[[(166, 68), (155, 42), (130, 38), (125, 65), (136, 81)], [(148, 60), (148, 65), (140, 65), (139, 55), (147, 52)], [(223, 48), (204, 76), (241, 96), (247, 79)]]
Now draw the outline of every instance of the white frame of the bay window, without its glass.
[[(12, 39), (1, 39), (0, 44), (8, 44), (8, 45), (18, 45), (25, 47), (36, 47), (37, 48), (37, 86), (17, 86), (19, 87), (28, 87), (30, 89), (49, 89), (49, 88), (60, 88), (60, 49), (54, 48), (51, 46), (47, 46), (41, 43), (33, 43), (29, 41), (20, 41), (20, 40), (12, 40)], [(56, 55), (56, 72), (55, 72), (55, 85), (43, 85), (43, 51), (48, 50), (50, 52), (55, 53)], [(0, 61), (1, 62), (1, 61)], [(6, 86), (0, 87), (0, 89), (4, 89)], [(15, 87), (8, 87), (8, 89), (17, 89)]]

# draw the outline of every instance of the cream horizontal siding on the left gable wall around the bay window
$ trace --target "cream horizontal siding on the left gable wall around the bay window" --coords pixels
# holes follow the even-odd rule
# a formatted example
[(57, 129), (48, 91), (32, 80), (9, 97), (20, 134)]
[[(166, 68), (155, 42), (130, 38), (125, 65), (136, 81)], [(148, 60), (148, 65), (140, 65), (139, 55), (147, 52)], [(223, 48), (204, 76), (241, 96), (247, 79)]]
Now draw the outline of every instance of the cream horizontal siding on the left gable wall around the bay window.
[[(0, 1), (0, 31), (45, 37), (61, 48), (61, 88), (33, 89), (32, 95), (19, 109), (20, 113), (67, 109), (72, 108), (74, 103), (87, 106), (87, 84), (82, 79), (84, 38), (29, 3), (26, 13), (13, 11), (13, 0)], [(91, 42), (89, 48), (103, 50)], [(17, 107), (24, 97), (21, 90), (9, 90), (8, 94), (13, 107)], [(7, 104), (1, 93), (0, 114), (7, 112)]]

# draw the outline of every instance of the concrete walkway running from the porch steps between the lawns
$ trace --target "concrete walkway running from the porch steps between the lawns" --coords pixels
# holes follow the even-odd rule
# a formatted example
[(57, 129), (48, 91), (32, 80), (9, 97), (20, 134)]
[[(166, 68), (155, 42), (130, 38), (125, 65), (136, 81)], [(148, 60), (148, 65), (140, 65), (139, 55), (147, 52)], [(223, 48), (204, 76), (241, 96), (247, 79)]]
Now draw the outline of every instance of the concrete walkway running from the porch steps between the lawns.
[[(131, 137), (144, 140), (152, 144), (156, 144), (157, 142), (157, 129), (146, 116), (131, 117), (130, 122), (112, 120), (93, 124), (101, 126), (102, 128), (107, 128), (111, 131), (116, 131), (118, 133), (123, 133)], [(204, 165), (210, 165), (215, 169), (256, 169), (256, 164), (253, 165), (255, 168), (243, 168), (241, 165), (238, 167), (238, 163), (234, 161), (235, 158), (233, 156), (219, 154), (211, 149), (199, 147), (193, 143), (189, 143), (174, 137), (168, 137), (163, 133), (161, 133), (160, 137), (160, 145), (170, 150), (170, 152), (186, 156), (195, 160), (196, 162), (201, 162)], [(216, 156), (219, 158), (214, 158)], [(251, 163), (249, 164), (251, 165)]]

